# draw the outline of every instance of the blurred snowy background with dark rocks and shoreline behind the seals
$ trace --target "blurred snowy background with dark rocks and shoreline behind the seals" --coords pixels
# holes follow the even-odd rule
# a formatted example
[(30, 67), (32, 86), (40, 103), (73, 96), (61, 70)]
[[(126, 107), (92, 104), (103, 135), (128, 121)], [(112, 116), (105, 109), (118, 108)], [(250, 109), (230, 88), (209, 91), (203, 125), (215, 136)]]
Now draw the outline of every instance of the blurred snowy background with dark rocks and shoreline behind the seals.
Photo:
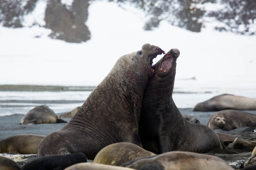
[(0, 0), (0, 115), (70, 111), (145, 43), (180, 50), (179, 108), (256, 98), (255, 0)]

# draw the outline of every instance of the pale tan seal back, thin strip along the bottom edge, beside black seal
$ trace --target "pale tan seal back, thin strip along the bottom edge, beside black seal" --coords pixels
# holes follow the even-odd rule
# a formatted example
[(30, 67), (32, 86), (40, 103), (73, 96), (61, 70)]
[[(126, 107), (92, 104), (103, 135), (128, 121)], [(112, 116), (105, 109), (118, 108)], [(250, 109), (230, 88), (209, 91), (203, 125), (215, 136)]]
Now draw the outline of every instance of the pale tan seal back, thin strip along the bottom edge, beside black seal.
[(90, 170), (134, 170), (132, 168), (113, 166), (113, 165), (104, 165), (97, 163), (79, 163), (76, 165), (69, 166), (64, 170), (81, 170), (81, 169), (90, 169)]

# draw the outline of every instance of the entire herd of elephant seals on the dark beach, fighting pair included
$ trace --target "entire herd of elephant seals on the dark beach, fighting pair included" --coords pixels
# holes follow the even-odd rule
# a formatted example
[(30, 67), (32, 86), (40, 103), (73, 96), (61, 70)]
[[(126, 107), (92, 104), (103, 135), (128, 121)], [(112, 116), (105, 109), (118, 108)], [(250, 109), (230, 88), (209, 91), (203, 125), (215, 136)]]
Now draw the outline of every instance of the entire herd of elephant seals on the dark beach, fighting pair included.
[[(63, 128), (47, 136), (1, 140), (0, 153), (37, 154), (38, 158), (20, 168), (1, 156), (0, 169), (234, 169), (223, 159), (203, 153), (256, 146), (214, 131), (255, 126), (256, 115), (240, 110), (256, 110), (256, 99), (223, 94), (198, 103), (194, 111), (219, 111), (207, 126), (182, 115), (172, 99), (179, 55), (178, 49), (165, 54), (150, 44), (123, 55), (81, 107), (60, 116), (72, 117)], [(21, 124), (62, 122), (47, 106), (37, 106), (21, 119)], [(255, 168), (255, 153), (256, 149), (244, 169)]]

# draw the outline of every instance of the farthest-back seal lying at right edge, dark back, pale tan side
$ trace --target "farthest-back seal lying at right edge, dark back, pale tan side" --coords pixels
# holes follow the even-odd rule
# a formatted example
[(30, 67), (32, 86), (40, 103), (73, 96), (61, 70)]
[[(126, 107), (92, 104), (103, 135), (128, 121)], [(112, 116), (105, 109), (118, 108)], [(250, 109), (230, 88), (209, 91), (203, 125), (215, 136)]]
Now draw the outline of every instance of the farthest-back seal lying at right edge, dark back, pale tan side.
[(193, 111), (209, 112), (226, 109), (256, 110), (256, 99), (232, 94), (222, 94), (202, 103), (197, 103)]

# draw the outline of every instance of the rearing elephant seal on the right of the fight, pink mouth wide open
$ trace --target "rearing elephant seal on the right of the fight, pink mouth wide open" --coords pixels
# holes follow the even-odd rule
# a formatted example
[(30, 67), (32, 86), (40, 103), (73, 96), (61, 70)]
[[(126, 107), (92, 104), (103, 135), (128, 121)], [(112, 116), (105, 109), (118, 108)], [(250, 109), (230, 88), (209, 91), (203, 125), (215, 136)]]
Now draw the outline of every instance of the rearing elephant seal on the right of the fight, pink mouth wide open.
[(178, 49), (171, 49), (154, 65), (156, 74), (148, 81), (140, 114), (139, 134), (143, 148), (157, 154), (223, 149), (212, 129), (188, 122), (172, 100), (179, 54)]

